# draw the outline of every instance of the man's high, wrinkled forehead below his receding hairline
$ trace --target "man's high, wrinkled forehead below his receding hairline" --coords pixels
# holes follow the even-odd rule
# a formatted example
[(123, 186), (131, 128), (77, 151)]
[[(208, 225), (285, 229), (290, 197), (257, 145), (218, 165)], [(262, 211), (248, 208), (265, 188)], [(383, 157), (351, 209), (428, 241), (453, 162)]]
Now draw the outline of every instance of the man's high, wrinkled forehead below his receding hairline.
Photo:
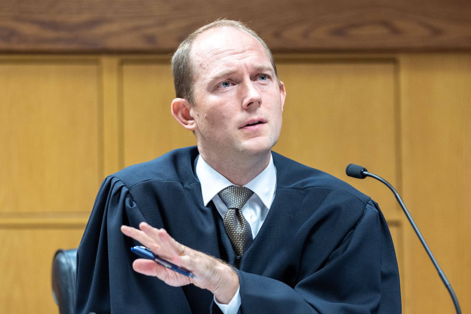
[(272, 68), (267, 51), (248, 32), (232, 27), (211, 28), (196, 37), (191, 48), (195, 74), (209, 74), (238, 65)]

